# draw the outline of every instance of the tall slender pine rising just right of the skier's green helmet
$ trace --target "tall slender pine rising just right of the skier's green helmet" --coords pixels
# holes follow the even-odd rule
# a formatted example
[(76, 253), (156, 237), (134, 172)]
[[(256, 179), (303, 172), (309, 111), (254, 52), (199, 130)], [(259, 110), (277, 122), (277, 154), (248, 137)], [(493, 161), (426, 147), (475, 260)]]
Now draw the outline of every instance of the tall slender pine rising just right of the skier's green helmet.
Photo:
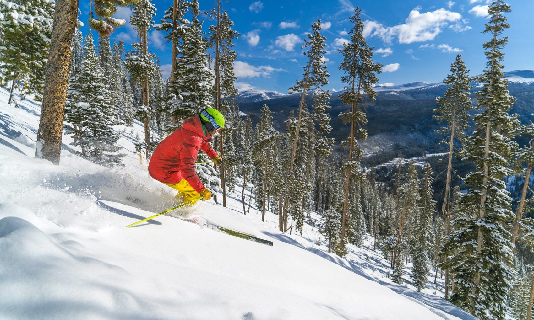
[[(216, 25), (209, 27), (208, 43), (211, 47), (215, 48), (215, 85), (213, 88), (213, 94), (215, 97), (215, 108), (221, 113), (230, 114), (234, 103), (234, 97), (237, 97), (238, 91), (235, 89), (234, 82), (235, 77), (233, 64), (237, 59), (235, 50), (232, 50), (234, 46), (233, 40), (239, 37), (239, 33), (233, 30), (234, 22), (230, 20), (228, 13), (224, 11), (221, 14), (221, 0), (217, 0), (217, 9), (213, 9), (210, 14), (211, 19), (216, 19)], [(226, 132), (225, 132), (226, 131)], [(230, 145), (230, 139), (225, 139), (225, 135), (231, 134), (231, 131), (225, 130), (221, 132), (219, 139), (219, 156), (225, 157), (224, 147)], [(224, 141), (223, 141), (224, 140)], [(224, 143), (227, 141), (227, 143)], [(223, 206), (226, 206), (226, 162), (221, 165), (221, 182), (223, 188)], [(229, 167), (231, 170), (232, 167)], [(234, 172), (230, 172), (234, 174)]]

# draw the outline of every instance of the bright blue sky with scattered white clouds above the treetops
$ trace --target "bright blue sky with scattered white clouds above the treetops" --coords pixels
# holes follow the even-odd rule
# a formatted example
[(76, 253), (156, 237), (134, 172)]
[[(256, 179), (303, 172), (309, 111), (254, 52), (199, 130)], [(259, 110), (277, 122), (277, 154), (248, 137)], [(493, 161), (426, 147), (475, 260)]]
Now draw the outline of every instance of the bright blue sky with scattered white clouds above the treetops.
[[(482, 44), (489, 39), (481, 33), (488, 21), (484, 17), (487, 2), (222, 0), (222, 6), (234, 21), (235, 30), (241, 34), (235, 41), (238, 88), (286, 93), (301, 77), (305, 57), (300, 46), (317, 19), (323, 21), (321, 33), (327, 37), (326, 58), (331, 76), (325, 89), (343, 88), (341, 71), (337, 69), (342, 57), (337, 48), (349, 38), (346, 33), (351, 28), (348, 18), (354, 13), (356, 4), (363, 12), (366, 40), (375, 47), (374, 59), (384, 65), (379, 75), (380, 84), (442, 81), (458, 53), (464, 57), (472, 75), (480, 74), (485, 65)], [(215, 0), (200, 0), (201, 11), (209, 11), (214, 3)], [(534, 37), (529, 21), (534, 12), (534, 1), (512, 0), (508, 3), (512, 12), (507, 14), (511, 28), (504, 34), (509, 37), (504, 50), (505, 70), (534, 69), (531, 58)], [(158, 9), (154, 20), (159, 23), (172, 1), (154, 0), (154, 5)], [(87, 21), (88, 4), (81, 5), (80, 9), (82, 21)], [(115, 17), (128, 21), (129, 15), (129, 8), (121, 8)], [(207, 30), (212, 23), (207, 19), (203, 28)], [(87, 27), (82, 31), (87, 33)], [(122, 39), (128, 48), (137, 35), (127, 22), (112, 38)], [(163, 73), (168, 75), (171, 46), (164, 41), (163, 34), (150, 31), (149, 47), (160, 57)]]

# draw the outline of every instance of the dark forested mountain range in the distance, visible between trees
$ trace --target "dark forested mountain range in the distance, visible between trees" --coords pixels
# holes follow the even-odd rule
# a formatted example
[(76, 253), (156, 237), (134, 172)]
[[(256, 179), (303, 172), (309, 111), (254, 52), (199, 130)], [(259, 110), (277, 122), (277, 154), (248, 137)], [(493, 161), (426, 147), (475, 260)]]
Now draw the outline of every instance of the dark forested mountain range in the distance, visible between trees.
[[(534, 121), (534, 71), (514, 70), (505, 73), (508, 79), (508, 90), (516, 98), (512, 112), (520, 115), (523, 123)], [(472, 83), (472, 100), (475, 103), (475, 92), (481, 85)], [(419, 153), (439, 151), (437, 141), (441, 135), (434, 131), (440, 125), (432, 117), (436, 105), (436, 97), (442, 96), (447, 85), (440, 83), (413, 82), (396, 86), (376, 86), (376, 100), (367, 106), (368, 123), (365, 125), (369, 138), (363, 143), (366, 153), (383, 153), (384, 150), (398, 150), (406, 146), (417, 146)], [(331, 125), (334, 128), (331, 137), (340, 142), (347, 138), (349, 126), (344, 125), (338, 115), (348, 109), (341, 102), (339, 94), (333, 92), (330, 100), (332, 109)], [(273, 91), (244, 91), (239, 108), (252, 118), (253, 123), (259, 121), (264, 103), (271, 109), (274, 128), (285, 131), (284, 121), (290, 110), (298, 110), (301, 94), (284, 95)], [(264, 95), (265, 94), (265, 95)], [(278, 97), (277, 97), (278, 95)], [(241, 93), (240, 93), (241, 96)], [(268, 97), (269, 99), (260, 100)], [(247, 99), (249, 99), (247, 101)], [(256, 99), (256, 100), (254, 100)], [(306, 98), (308, 106), (312, 106), (312, 98)], [(403, 151), (404, 155), (408, 151)], [(419, 156), (414, 154), (413, 156)], [(384, 159), (385, 160), (385, 159)]]

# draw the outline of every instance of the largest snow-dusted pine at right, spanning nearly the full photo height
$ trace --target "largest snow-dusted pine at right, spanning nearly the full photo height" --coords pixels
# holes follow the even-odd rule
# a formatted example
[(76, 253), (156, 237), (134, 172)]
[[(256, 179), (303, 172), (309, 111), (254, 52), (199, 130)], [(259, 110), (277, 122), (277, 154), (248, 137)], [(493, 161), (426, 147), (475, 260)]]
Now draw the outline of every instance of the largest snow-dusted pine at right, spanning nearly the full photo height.
[(483, 85), (477, 94), (473, 118), (475, 129), (462, 153), (473, 162), (476, 171), (464, 178), (471, 188), (461, 199), (462, 217), (454, 220), (457, 230), (447, 237), (446, 247), (458, 249), (449, 254), (446, 268), (455, 274), (455, 289), (451, 301), (481, 319), (504, 319), (508, 311), (506, 300), (512, 289), (513, 271), (511, 234), (505, 222), (514, 219), (512, 198), (502, 178), (513, 173), (509, 164), (517, 149), (512, 139), (519, 129), (517, 115), (509, 115), (514, 99), (508, 93), (508, 82), (502, 72), (507, 43), (501, 38), (509, 27), (503, 15), (508, 4), (493, 1), (488, 9), (490, 21), (484, 33), (491, 36), (484, 43), (488, 58), (484, 73), (477, 81)]

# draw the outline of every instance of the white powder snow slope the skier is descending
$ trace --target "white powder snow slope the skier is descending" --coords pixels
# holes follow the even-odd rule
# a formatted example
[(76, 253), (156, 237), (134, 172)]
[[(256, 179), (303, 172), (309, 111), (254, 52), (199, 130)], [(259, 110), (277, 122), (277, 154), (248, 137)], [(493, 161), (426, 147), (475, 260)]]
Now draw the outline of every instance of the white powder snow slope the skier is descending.
[(237, 193), (227, 208), (201, 202), (189, 213), (272, 247), (172, 214), (124, 228), (174, 205), (133, 153), (142, 126), (123, 134), (124, 167), (73, 155), (68, 137), (56, 166), (34, 158), (40, 105), (15, 109), (7, 97), (1, 88), (0, 319), (473, 319), (441, 298), (433, 275), (421, 293), (409, 266), (407, 284), (392, 283), (371, 239), (339, 258), (317, 228), (283, 234), (275, 214), (242, 214)]

